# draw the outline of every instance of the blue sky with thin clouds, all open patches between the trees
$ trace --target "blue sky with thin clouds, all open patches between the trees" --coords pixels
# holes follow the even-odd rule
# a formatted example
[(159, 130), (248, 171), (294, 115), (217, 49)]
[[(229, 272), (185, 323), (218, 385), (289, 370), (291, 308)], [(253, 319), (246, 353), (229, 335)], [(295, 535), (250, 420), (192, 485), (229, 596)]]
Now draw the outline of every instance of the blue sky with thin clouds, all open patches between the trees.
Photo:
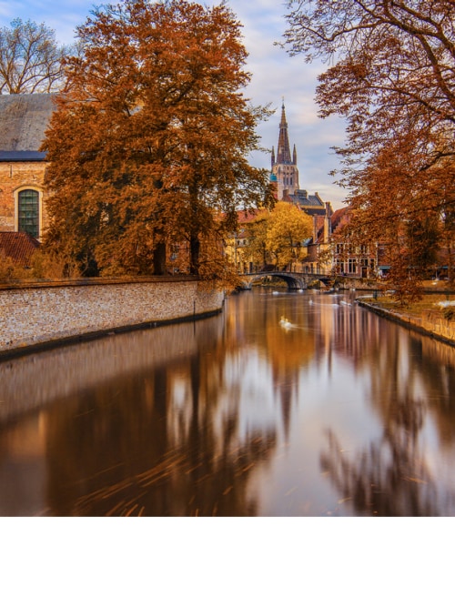
[[(56, 31), (62, 44), (74, 41), (76, 25), (85, 22), (94, 5), (90, 0), (0, 0), (0, 25), (9, 26), (21, 17), (44, 22)], [(113, 2), (116, 4), (116, 2)], [(207, 5), (219, 4), (207, 0)], [(244, 44), (248, 50), (248, 71), (252, 74), (247, 95), (254, 105), (271, 103), (274, 116), (259, 128), (262, 145), (277, 147), (281, 100), (284, 97), (288, 118), (290, 146), (297, 147), (300, 187), (309, 193), (319, 192), (334, 208), (339, 208), (345, 192), (333, 184), (329, 171), (339, 167), (330, 149), (341, 145), (344, 137), (338, 118), (322, 120), (314, 103), (317, 76), (324, 66), (308, 65), (302, 56), (290, 57), (274, 42), (286, 28), (285, 6), (280, 0), (230, 0), (227, 5), (243, 24)], [(268, 154), (255, 153), (251, 162), (256, 167), (270, 167)]]

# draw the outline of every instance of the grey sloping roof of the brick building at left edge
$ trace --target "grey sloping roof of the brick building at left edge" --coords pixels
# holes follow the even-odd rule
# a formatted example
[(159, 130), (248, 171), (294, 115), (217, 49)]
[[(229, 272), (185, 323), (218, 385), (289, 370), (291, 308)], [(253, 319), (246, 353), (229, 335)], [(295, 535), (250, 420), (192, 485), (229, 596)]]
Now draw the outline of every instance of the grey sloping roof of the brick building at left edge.
[(0, 160), (43, 160), (39, 152), (55, 94), (0, 95)]

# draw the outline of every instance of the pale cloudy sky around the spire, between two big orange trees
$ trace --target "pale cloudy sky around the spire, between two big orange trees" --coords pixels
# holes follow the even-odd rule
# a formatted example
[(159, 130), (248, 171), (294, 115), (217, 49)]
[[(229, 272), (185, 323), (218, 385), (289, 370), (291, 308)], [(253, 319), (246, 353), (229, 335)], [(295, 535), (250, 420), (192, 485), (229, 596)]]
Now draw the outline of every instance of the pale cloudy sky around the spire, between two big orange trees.
[[(271, 103), (277, 111), (258, 128), (264, 147), (277, 147), (282, 98), (286, 106), (291, 147), (298, 152), (300, 187), (319, 192), (335, 208), (346, 192), (333, 183), (330, 171), (339, 168), (339, 157), (331, 149), (341, 146), (345, 129), (336, 117), (322, 120), (314, 101), (318, 75), (324, 66), (305, 63), (302, 56), (291, 57), (275, 43), (282, 40), (286, 29), (284, 6), (273, 0), (247, 3), (231, 0), (229, 6), (244, 25), (244, 44), (248, 50), (248, 71), (252, 74), (247, 95), (253, 105)], [(251, 162), (257, 167), (270, 167), (270, 156), (255, 153)]]

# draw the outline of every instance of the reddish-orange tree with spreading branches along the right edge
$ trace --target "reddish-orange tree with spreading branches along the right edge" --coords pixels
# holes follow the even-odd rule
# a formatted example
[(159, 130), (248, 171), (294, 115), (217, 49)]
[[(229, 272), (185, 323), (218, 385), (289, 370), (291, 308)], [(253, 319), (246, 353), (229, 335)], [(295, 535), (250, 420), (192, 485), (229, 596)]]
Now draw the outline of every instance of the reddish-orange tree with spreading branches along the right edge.
[(398, 275), (412, 269), (419, 280), (441, 241), (453, 238), (455, 5), (289, 0), (287, 20), (289, 52), (331, 64), (317, 100), (321, 117), (347, 122), (337, 151), (351, 237), (394, 243)]

